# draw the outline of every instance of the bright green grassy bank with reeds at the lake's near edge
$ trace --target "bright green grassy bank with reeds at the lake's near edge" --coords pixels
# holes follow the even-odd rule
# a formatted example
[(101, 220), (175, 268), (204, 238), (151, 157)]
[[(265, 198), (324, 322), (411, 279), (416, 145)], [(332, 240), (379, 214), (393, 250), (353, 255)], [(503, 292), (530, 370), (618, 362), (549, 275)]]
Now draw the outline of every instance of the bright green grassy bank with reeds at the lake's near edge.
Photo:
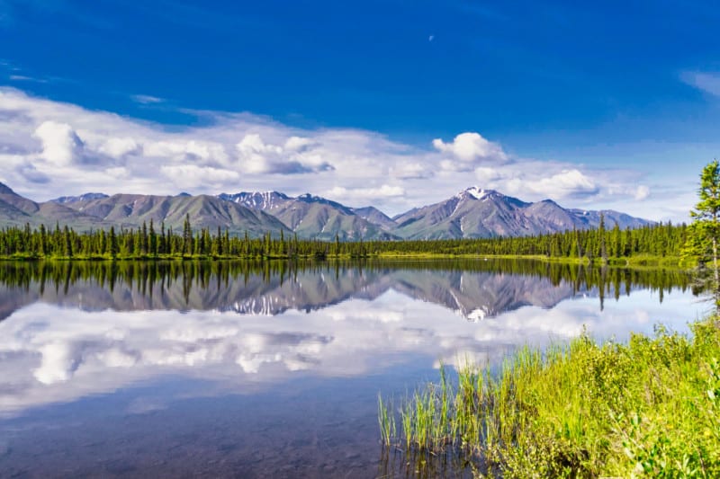
[(587, 335), (524, 349), (491, 374), (460, 368), (396, 409), (381, 397), (383, 443), (409, 457), (451, 455), (478, 475), (720, 476), (720, 330), (658, 328), (627, 344)]

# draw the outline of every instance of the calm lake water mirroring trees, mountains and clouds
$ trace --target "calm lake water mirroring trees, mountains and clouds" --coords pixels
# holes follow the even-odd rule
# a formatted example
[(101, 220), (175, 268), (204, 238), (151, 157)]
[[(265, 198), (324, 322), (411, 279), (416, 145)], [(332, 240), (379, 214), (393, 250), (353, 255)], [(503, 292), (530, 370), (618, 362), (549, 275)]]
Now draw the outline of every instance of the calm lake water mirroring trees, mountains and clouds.
[(677, 271), (0, 263), (0, 476), (378, 477), (377, 395), (524, 344), (687, 331)]

